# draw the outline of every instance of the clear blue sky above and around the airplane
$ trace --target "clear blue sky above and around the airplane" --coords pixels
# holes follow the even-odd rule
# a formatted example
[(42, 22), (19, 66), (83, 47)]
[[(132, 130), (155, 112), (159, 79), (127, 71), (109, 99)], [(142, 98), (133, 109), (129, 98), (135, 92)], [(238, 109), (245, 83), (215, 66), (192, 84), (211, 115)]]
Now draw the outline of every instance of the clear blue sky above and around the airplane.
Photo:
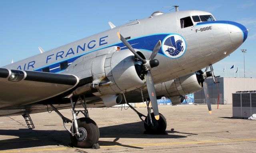
[[(39, 54), (81, 38), (108, 30), (108, 22), (116, 26), (126, 21), (142, 19), (160, 10), (173, 12), (164, 6), (179, 5), (179, 10), (211, 12), (217, 20), (243, 24), (248, 38), (235, 52), (214, 64), (216, 75), (234, 77), (239, 69), (243, 77), (244, 58), (240, 49), (246, 49), (246, 77), (256, 77), (256, 1), (255, 0), (2, 0), (0, 3), (0, 67)], [(237, 77), (237, 74), (236, 74)]]

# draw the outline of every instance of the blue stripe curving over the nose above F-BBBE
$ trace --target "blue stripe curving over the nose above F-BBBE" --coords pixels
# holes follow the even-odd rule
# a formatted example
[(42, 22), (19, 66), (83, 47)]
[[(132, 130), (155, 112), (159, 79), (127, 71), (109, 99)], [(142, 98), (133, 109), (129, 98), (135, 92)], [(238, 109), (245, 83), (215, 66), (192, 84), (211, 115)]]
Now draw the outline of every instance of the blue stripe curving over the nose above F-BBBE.
[(245, 26), (240, 24), (240, 23), (237, 23), (237, 22), (233, 22), (233, 21), (209, 21), (209, 22), (199, 22), (199, 23), (196, 24), (196, 26), (202, 26), (202, 25), (205, 25), (205, 24), (230, 24), (230, 25), (233, 25), (233, 26), (237, 26), (238, 28), (240, 28), (242, 30), (242, 32), (244, 34), (243, 42), (246, 40), (246, 38), (248, 36), (248, 31), (245, 28)]

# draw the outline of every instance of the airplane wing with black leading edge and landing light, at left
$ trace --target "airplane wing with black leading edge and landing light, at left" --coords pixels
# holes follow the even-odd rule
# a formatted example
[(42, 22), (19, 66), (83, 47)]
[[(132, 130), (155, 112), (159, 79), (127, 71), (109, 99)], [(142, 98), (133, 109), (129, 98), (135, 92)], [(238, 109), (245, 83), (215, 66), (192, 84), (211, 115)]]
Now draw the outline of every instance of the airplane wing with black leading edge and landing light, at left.
[(74, 88), (78, 77), (71, 74), (7, 70), (0, 68), (0, 108), (36, 103)]

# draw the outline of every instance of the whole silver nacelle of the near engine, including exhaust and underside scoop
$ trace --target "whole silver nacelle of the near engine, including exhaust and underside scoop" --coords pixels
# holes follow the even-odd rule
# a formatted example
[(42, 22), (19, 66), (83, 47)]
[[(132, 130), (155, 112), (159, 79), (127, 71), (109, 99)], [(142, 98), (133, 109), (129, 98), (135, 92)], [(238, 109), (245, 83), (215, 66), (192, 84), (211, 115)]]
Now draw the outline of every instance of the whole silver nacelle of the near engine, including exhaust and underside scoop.
[(134, 64), (134, 54), (130, 50), (120, 51), (120, 47), (112, 46), (92, 52), (90, 56), (81, 56), (64, 73), (74, 74), (80, 78), (81, 84), (84, 83), (73, 91), (73, 95), (97, 89), (98, 92), (93, 94), (110, 107), (122, 101), (118, 94), (144, 85), (144, 79), (138, 76)]

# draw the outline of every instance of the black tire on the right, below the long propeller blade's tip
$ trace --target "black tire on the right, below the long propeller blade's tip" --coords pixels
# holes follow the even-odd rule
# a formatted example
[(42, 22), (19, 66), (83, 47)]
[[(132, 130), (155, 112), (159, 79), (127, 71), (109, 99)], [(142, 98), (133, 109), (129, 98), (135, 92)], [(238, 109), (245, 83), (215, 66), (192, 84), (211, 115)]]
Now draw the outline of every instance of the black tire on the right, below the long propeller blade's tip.
[[(154, 124), (154, 127), (150, 124), (147, 125), (146, 123), (144, 123), (144, 128), (146, 130), (146, 133), (149, 134), (162, 134), (165, 133), (166, 127), (167, 127), (167, 123), (166, 123), (166, 119), (164, 117), (164, 115), (162, 115), (161, 113), (159, 113), (159, 120), (155, 119), (154, 113), (150, 114), (152, 117), (152, 122)], [(148, 121), (148, 116), (145, 118), (145, 121)], [(150, 122), (150, 121), (148, 121)]]

